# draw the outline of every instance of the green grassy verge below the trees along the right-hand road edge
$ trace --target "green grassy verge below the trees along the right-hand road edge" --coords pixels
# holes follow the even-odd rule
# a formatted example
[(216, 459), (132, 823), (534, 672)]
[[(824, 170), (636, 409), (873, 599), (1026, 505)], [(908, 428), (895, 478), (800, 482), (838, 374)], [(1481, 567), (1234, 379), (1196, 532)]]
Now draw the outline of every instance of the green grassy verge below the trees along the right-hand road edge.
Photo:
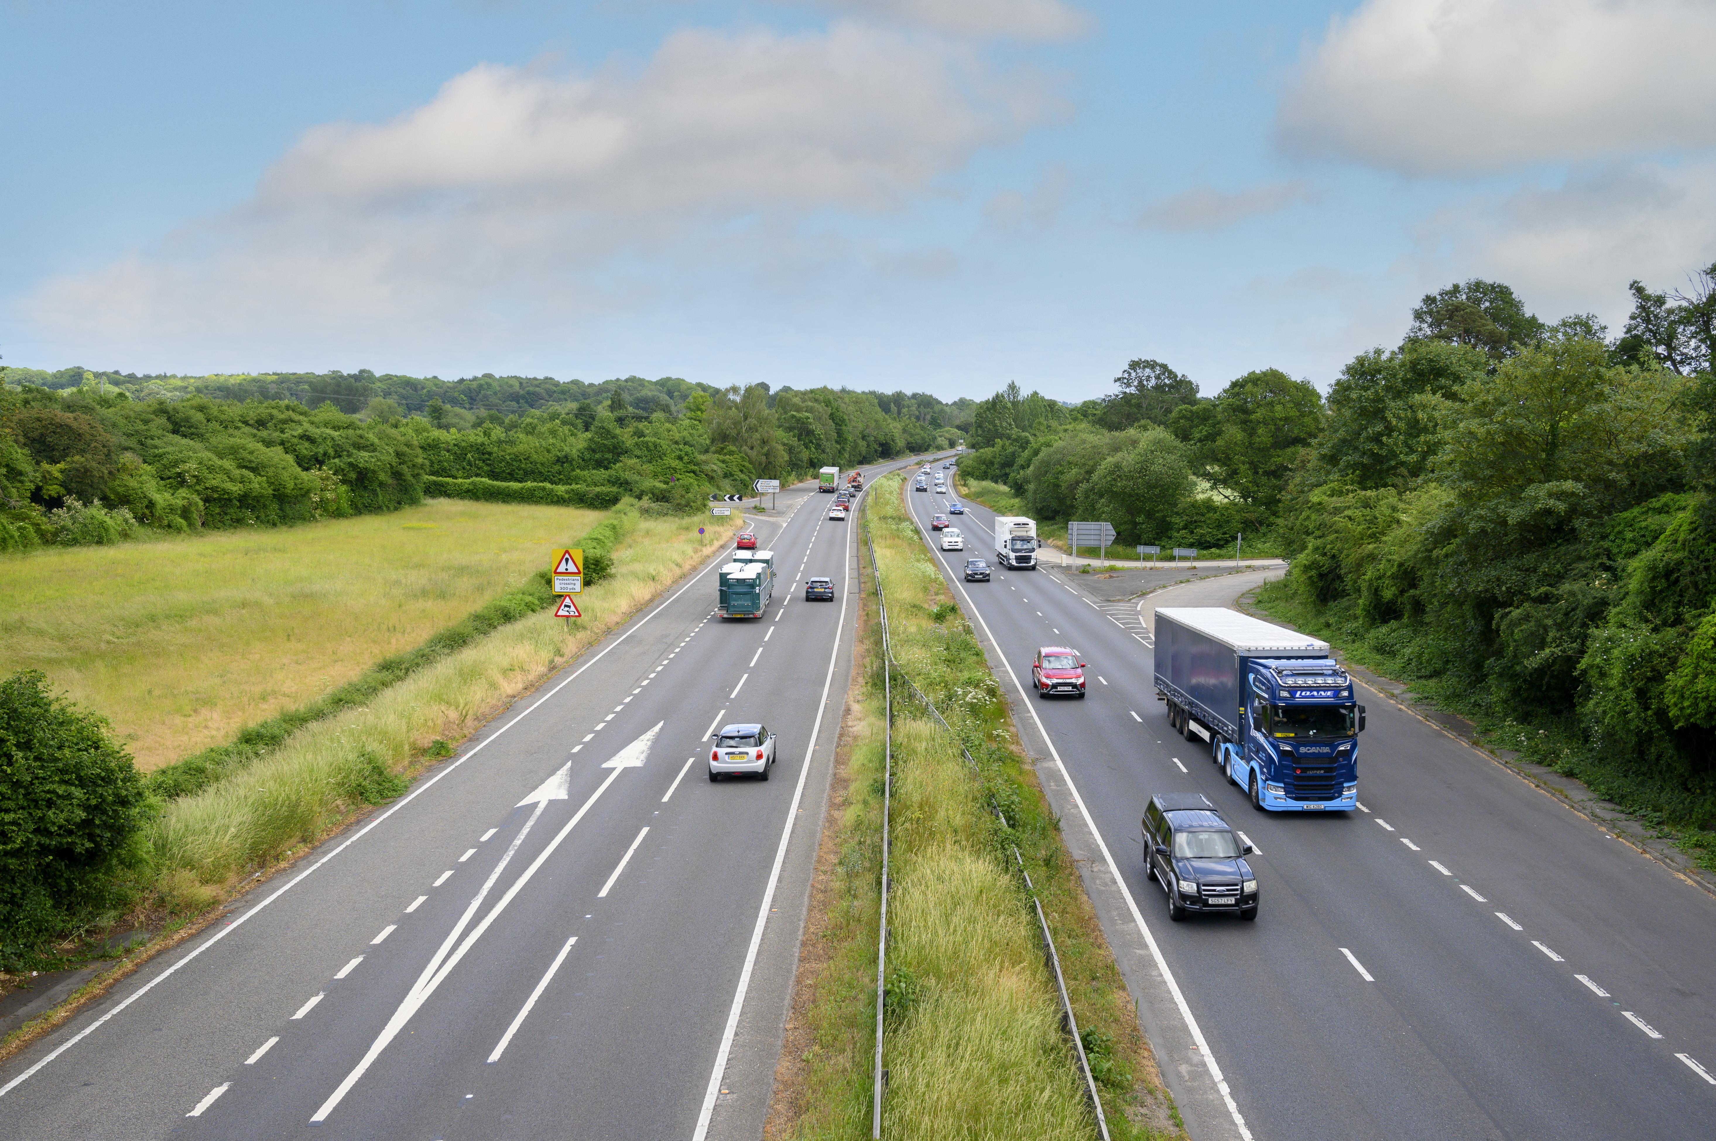
[(1254, 606), (1275, 621), (1323, 638), (1344, 659), (1385, 678), (1404, 681), (1416, 697), (1472, 722), (1474, 738), (1481, 746), (1514, 753), (1524, 762), (1582, 781), (1592, 793), (1635, 815), (1658, 836), (1673, 842), (1701, 868), (1716, 872), (1716, 832), (1670, 824), (1675, 791), (1649, 776), (1640, 776), (1628, 757), (1594, 755), (1567, 719), (1544, 717), (1536, 724), (1522, 722), (1517, 714), (1496, 710), (1469, 686), (1414, 667), (1409, 655), (1390, 652), (1387, 628), (1366, 630), (1356, 619), (1344, 621), (1352, 613), (1350, 601), (1328, 609), (1309, 606), (1294, 594), (1285, 578), (1263, 583), (1253, 597)]

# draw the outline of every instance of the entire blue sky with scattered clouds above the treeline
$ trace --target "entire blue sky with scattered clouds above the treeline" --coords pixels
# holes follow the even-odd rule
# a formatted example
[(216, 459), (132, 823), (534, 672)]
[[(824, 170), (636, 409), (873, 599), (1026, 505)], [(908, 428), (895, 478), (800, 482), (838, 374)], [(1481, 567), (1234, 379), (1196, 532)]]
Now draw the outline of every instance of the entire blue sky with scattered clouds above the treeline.
[(1707, 0), (0, 5), (0, 353), (1318, 386), (1716, 259)]

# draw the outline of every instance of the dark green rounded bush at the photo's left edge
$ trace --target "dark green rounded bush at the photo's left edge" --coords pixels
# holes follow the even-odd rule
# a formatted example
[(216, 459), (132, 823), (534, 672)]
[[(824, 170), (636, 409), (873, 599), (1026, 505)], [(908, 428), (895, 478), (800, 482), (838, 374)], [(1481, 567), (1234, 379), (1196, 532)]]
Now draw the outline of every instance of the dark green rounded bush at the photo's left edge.
[(142, 818), (142, 779), (105, 722), (34, 669), (0, 681), (0, 968), (108, 903)]

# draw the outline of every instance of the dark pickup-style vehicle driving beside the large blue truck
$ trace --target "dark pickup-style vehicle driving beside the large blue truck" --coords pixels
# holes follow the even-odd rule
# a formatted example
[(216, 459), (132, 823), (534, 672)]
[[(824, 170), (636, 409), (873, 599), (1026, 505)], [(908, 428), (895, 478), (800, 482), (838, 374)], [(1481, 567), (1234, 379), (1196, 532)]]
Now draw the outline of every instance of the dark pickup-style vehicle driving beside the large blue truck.
[(1145, 875), (1169, 896), (1169, 918), (1187, 911), (1239, 913), (1258, 918), (1258, 873), (1222, 813), (1201, 793), (1158, 793), (1145, 808)]

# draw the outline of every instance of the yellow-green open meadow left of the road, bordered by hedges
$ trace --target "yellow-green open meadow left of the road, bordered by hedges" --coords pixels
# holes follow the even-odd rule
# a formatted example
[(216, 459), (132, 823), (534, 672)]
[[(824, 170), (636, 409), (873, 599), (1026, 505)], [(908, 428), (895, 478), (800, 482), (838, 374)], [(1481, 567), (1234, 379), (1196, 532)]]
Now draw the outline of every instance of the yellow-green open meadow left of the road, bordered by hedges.
[(41, 669), (105, 715), (148, 772), (420, 645), (601, 518), (432, 499), (0, 559), (0, 674)]

